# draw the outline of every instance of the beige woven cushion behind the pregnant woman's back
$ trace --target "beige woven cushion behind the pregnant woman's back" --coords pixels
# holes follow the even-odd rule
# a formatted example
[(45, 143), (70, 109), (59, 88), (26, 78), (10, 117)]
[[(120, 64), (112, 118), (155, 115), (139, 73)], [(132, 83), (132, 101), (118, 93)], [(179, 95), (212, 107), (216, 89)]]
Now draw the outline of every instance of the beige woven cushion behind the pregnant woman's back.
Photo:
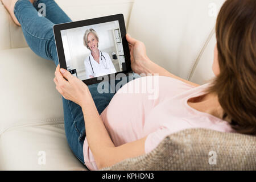
[(256, 170), (256, 137), (187, 129), (166, 137), (148, 154), (102, 170)]

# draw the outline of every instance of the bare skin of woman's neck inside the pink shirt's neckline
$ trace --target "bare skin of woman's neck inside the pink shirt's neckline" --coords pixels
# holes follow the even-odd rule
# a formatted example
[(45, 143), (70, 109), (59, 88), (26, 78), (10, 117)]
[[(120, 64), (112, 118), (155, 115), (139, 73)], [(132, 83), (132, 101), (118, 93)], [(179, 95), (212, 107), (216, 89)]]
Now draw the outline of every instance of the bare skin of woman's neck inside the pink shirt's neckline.
[[(218, 102), (218, 96), (213, 93), (208, 93), (200, 97), (191, 98), (188, 100), (188, 105), (193, 109), (208, 113), (214, 117), (222, 119), (224, 111)], [(229, 122), (229, 118), (225, 118), (225, 121)]]

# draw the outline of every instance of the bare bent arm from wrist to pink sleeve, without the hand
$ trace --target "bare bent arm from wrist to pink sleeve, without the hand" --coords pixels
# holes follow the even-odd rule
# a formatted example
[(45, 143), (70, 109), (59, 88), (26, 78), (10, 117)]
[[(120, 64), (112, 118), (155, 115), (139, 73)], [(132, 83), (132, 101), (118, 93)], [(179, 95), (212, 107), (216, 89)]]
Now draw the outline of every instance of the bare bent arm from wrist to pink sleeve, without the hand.
[(90, 93), (85, 98), (81, 107), (84, 114), (86, 138), (99, 169), (144, 154), (146, 137), (115, 147)]

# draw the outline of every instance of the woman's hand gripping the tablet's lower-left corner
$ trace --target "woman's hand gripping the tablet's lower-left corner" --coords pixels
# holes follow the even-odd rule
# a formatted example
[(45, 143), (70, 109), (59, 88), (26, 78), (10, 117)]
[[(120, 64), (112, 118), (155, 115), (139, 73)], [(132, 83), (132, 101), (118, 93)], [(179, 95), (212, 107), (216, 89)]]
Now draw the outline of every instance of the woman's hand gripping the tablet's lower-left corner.
[(65, 99), (76, 102), (80, 106), (86, 102), (86, 97), (92, 97), (88, 86), (79, 78), (72, 76), (66, 69), (60, 69), (60, 65), (57, 65), (53, 81), (56, 89)]

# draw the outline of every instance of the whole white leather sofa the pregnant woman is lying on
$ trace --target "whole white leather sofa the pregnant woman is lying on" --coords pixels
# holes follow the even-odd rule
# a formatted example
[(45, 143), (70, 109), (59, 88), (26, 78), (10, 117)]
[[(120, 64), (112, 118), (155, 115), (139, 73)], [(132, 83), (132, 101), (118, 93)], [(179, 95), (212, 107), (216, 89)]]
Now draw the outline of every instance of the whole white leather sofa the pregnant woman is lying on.
[[(224, 0), (56, 2), (73, 20), (122, 13), (152, 61), (198, 84), (213, 77), (214, 24)], [(86, 170), (65, 138), (55, 64), (28, 48), (3, 5), (0, 27), (0, 170)]]

